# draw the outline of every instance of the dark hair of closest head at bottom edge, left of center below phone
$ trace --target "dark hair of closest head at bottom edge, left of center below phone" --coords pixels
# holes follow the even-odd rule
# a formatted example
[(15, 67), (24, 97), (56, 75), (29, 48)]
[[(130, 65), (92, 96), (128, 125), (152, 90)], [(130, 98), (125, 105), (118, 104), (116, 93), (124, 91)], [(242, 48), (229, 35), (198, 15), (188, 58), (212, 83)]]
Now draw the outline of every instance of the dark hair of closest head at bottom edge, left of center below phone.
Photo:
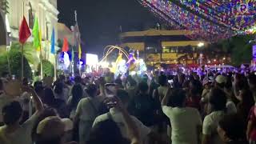
[(112, 144), (128, 144), (128, 140), (122, 138), (122, 133), (117, 124), (112, 119), (107, 119), (94, 127), (90, 133), (88, 144), (105, 144), (111, 142)]

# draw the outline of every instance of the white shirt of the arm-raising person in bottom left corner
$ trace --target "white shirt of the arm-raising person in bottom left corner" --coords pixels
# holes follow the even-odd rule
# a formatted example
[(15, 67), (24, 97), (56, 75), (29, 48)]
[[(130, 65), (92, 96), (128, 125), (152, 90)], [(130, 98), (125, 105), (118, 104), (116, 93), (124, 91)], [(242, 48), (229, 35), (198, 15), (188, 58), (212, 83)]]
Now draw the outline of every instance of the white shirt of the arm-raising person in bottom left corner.
[(24, 122), (17, 130), (11, 134), (6, 134), (6, 126), (0, 127), (0, 143), (1, 144), (32, 144), (31, 133), (34, 123), (38, 119), (38, 113), (35, 113), (26, 122)]

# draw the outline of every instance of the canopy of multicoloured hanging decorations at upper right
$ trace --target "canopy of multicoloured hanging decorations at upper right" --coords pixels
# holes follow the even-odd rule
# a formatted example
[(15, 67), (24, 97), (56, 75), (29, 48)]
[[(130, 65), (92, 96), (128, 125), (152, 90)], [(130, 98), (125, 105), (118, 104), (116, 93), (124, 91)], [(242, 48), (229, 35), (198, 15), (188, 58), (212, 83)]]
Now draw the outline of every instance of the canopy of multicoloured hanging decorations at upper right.
[(139, 0), (176, 29), (193, 30), (191, 38), (210, 42), (254, 32), (254, 0)]

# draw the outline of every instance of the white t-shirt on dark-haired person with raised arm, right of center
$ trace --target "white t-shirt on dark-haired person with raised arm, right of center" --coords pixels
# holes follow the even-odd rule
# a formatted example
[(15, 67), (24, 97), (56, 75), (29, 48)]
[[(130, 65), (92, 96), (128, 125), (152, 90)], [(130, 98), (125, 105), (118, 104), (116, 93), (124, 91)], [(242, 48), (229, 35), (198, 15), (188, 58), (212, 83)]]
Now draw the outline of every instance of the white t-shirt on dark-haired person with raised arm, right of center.
[(170, 118), (172, 144), (198, 144), (198, 126), (202, 126), (198, 110), (162, 106), (162, 111)]

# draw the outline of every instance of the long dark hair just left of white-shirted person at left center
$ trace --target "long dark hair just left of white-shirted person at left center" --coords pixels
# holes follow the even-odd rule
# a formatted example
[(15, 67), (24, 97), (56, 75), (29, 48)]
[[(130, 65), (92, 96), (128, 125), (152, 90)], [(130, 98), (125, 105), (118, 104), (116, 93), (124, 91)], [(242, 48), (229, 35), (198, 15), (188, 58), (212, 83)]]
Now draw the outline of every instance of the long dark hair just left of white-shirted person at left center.
[(71, 108), (76, 108), (78, 106), (78, 102), (82, 98), (82, 86), (80, 84), (75, 84), (71, 90), (72, 99), (71, 99)]

